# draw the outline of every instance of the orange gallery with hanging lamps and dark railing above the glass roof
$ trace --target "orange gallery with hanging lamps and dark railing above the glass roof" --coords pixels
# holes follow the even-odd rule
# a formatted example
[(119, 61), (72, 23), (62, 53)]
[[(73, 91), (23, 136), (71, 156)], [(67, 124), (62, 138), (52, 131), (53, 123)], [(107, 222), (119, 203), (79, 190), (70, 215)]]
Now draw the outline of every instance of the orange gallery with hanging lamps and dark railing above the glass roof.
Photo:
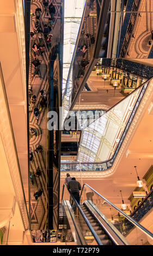
[(90, 73), (73, 110), (108, 111), (153, 74), (153, 65), (139, 60), (99, 59)]

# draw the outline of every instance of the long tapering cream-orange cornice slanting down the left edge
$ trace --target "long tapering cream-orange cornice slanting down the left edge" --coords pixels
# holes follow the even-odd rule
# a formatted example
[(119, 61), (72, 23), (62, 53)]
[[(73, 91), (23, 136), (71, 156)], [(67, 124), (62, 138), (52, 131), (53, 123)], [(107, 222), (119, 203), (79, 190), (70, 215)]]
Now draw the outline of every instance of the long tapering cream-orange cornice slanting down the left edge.
[(26, 199), (23, 190), (21, 179), (21, 172), (19, 160), (17, 157), (17, 150), (15, 145), (13, 126), (11, 124), (9, 106), (7, 101), (7, 94), (3, 81), (2, 69), (0, 66), (0, 136), (2, 138), (5, 156), (7, 158), (11, 180), (13, 182), (16, 200), (19, 205), (21, 217), (25, 230), (28, 229), (28, 212), (26, 206)]

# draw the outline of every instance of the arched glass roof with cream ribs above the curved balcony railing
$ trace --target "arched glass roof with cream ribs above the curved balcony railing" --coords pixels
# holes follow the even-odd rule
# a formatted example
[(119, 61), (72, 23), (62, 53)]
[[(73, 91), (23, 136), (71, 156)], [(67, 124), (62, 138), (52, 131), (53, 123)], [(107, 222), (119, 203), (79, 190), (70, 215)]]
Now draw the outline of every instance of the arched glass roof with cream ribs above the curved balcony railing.
[(83, 130), (77, 161), (101, 162), (113, 156), (140, 90), (137, 89)]

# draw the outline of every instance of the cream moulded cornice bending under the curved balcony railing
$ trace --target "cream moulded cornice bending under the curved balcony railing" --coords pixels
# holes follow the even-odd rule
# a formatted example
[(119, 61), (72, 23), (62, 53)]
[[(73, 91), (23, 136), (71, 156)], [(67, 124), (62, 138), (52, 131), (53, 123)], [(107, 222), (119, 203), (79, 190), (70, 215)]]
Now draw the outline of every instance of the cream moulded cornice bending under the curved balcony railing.
[[(117, 167), (123, 157), (123, 155), (126, 153), (127, 151), (127, 147), (130, 144), (131, 140), (132, 140), (132, 136), (134, 135), (134, 132), (136, 131), (140, 121), (143, 118), (143, 115), (146, 111), (146, 109), (148, 108), (148, 104), (150, 103), (150, 100), (152, 99), (153, 96), (153, 79), (149, 82), (148, 87), (145, 90), (145, 94), (143, 96), (143, 100), (139, 103), (136, 115), (133, 118), (133, 121), (130, 125), (130, 128), (128, 129), (126, 136), (124, 138), (124, 141), (119, 149), (119, 152), (117, 154), (117, 157), (114, 160), (114, 163), (112, 165), (111, 168), (107, 169), (106, 171), (99, 171), (99, 172), (71, 172), (69, 170), (69, 173), (71, 173), (71, 175), (75, 175), (76, 178), (104, 178), (104, 177), (108, 177), (111, 176), (113, 173), (115, 173), (115, 171), (117, 170)], [(60, 177), (64, 178), (66, 176), (67, 172), (60, 172)]]

